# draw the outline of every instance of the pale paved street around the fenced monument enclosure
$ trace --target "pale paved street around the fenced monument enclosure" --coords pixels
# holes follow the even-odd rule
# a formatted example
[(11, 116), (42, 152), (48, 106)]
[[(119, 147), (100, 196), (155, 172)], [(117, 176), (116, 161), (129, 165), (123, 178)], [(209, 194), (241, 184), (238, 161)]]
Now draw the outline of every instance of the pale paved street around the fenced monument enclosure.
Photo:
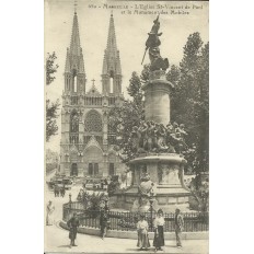
[[(74, 186), (71, 190), (66, 192), (66, 196), (55, 197), (54, 193), (46, 190), (46, 203), (53, 200), (55, 205), (55, 223), (54, 226), (45, 227), (45, 252), (83, 252), (83, 253), (154, 253), (154, 250), (149, 251), (138, 251), (136, 247), (137, 241), (132, 239), (115, 239), (106, 238), (102, 240), (96, 235), (78, 234), (76, 243), (78, 246), (69, 247), (69, 232), (59, 227), (59, 221), (62, 217), (62, 204), (68, 203), (69, 193), (72, 195), (72, 200), (79, 193), (81, 186)], [(45, 206), (46, 207), (46, 206)], [(45, 213), (46, 215), (46, 213)], [(152, 240), (150, 240), (152, 244)], [(158, 253), (208, 253), (208, 241), (207, 240), (188, 240), (183, 241), (184, 247), (176, 249), (175, 241), (165, 241), (165, 247), (163, 252)]]

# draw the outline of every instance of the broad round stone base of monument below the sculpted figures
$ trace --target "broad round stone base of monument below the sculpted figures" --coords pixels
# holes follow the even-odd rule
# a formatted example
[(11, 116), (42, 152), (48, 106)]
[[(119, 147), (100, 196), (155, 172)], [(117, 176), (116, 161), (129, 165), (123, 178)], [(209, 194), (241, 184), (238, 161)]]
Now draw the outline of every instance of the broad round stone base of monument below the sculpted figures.
[(161, 208), (164, 212), (174, 212), (175, 208), (180, 208), (187, 211), (190, 193), (183, 181), (185, 163), (185, 159), (176, 153), (148, 154), (131, 160), (132, 186), (125, 193), (116, 193), (112, 205), (135, 212), (148, 211), (149, 198), (140, 198), (139, 189), (140, 178), (147, 173), (154, 183), (152, 203), (154, 210)]

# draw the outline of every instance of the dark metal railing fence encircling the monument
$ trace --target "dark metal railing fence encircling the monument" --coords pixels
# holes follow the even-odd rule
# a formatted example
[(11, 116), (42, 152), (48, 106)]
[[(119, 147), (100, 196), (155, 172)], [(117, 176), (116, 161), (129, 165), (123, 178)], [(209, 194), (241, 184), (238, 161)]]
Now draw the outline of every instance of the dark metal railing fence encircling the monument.
[[(85, 207), (81, 203), (68, 203), (64, 205), (62, 208), (64, 221), (68, 221), (73, 212), (77, 212), (80, 220), (81, 227), (89, 227), (100, 229), (100, 210), (85, 210)], [(108, 227), (112, 230), (118, 231), (135, 231), (136, 224), (140, 218), (140, 215), (145, 216), (148, 221), (149, 231), (153, 231), (153, 219), (155, 218), (155, 212), (130, 212), (130, 211), (109, 211), (108, 212)], [(198, 232), (209, 230), (209, 213), (208, 212), (182, 212), (184, 218), (184, 232)], [(175, 215), (173, 212), (164, 213), (164, 231), (174, 232)]]

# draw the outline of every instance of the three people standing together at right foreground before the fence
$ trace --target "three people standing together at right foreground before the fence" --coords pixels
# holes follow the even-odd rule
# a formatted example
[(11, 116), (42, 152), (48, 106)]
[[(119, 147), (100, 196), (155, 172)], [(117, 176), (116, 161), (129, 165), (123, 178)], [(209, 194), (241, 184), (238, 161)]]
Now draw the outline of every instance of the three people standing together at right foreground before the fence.
[[(165, 245), (164, 241), (164, 229), (163, 226), (165, 223), (163, 211), (159, 209), (157, 212), (157, 218), (153, 221), (154, 228), (154, 239), (153, 246), (157, 251), (163, 251), (162, 247)], [(180, 213), (180, 209), (175, 210), (175, 236), (176, 236), (176, 246), (182, 247), (181, 241), (181, 232), (183, 231), (184, 220), (182, 215)], [(148, 250), (150, 247), (149, 236), (148, 236), (148, 222), (145, 220), (145, 216), (140, 216), (140, 220), (137, 223), (138, 231), (138, 243), (137, 246), (140, 250)]]

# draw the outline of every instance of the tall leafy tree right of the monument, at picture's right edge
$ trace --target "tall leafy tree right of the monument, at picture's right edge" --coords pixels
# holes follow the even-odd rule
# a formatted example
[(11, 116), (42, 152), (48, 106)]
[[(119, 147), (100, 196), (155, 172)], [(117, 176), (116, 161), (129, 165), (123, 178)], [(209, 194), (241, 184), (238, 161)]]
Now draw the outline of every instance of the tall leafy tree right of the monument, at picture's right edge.
[(203, 44), (199, 33), (190, 34), (180, 67), (172, 66), (168, 72), (175, 85), (171, 118), (186, 126), (186, 142), (195, 148), (186, 159), (197, 175), (208, 170), (209, 148), (209, 44)]

